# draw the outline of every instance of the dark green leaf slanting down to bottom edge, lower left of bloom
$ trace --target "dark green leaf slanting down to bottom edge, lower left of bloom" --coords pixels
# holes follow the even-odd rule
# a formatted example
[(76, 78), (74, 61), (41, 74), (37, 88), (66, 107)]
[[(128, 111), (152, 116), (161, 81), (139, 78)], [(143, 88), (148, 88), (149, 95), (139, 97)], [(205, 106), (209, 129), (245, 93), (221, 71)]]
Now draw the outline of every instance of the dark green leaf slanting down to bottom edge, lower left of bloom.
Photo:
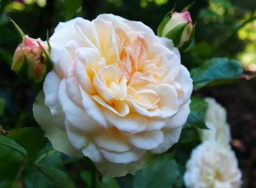
[(54, 167), (41, 164), (36, 165), (36, 168), (45, 176), (49, 177), (49, 179), (52, 180), (58, 188), (76, 188), (75, 184), (69, 179), (65, 172)]

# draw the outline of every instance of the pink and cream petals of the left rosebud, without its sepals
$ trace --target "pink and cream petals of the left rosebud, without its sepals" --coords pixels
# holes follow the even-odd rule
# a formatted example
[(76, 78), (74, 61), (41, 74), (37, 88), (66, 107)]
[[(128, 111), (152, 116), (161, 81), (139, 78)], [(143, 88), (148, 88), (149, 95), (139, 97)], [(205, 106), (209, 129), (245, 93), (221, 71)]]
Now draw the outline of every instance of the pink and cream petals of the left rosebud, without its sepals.
[(44, 79), (47, 67), (47, 58), (37, 42), (49, 53), (48, 46), (43, 41), (32, 39), (26, 35), (22, 43), (15, 50), (12, 61), (12, 70), (18, 74), (24, 63), (24, 55), (27, 56), (26, 77), (28, 78), (27, 80), (32, 80), (34, 83), (40, 83)]

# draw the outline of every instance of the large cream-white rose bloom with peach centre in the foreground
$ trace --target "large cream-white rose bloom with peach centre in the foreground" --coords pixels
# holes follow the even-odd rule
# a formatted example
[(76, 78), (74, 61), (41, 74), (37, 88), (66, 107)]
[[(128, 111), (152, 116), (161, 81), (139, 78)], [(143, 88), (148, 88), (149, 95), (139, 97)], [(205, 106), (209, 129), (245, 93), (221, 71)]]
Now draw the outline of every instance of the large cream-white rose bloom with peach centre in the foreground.
[(54, 67), (33, 108), (53, 148), (118, 177), (172, 147), (193, 86), (163, 40), (170, 49), (148, 26), (112, 14), (60, 23), (50, 38)]

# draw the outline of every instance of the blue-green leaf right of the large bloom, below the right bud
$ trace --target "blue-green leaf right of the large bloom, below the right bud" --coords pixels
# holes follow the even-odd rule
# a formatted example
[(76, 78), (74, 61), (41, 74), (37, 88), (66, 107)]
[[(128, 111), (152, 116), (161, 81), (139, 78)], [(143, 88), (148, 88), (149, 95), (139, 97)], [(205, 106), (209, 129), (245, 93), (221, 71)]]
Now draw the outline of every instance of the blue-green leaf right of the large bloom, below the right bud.
[(193, 88), (199, 89), (217, 79), (233, 79), (243, 73), (242, 65), (233, 59), (212, 58), (192, 69)]

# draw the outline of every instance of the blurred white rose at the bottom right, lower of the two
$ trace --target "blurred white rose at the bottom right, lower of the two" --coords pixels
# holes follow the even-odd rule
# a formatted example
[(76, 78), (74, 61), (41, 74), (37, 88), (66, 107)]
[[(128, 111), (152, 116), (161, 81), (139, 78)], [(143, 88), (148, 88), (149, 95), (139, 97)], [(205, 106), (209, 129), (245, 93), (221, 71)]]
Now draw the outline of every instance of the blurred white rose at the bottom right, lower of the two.
[(186, 164), (184, 182), (189, 188), (239, 188), (241, 171), (235, 153), (208, 140), (198, 145)]

